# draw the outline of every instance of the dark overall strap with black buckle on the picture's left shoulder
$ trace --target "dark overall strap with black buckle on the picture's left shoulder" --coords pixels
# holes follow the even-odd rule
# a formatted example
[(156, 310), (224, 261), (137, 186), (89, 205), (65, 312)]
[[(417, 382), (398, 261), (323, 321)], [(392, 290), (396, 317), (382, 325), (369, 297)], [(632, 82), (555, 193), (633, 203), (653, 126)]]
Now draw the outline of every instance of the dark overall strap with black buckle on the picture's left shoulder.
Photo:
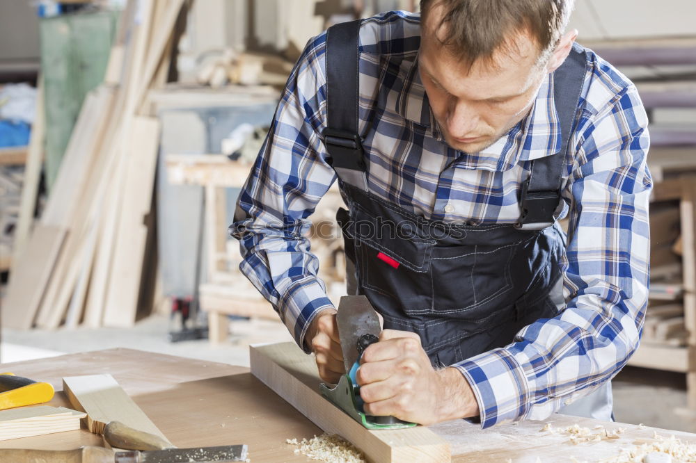
[(338, 178), (367, 190), (363, 143), (358, 133), (358, 60), (361, 20), (326, 31), (326, 129), (324, 145)]

